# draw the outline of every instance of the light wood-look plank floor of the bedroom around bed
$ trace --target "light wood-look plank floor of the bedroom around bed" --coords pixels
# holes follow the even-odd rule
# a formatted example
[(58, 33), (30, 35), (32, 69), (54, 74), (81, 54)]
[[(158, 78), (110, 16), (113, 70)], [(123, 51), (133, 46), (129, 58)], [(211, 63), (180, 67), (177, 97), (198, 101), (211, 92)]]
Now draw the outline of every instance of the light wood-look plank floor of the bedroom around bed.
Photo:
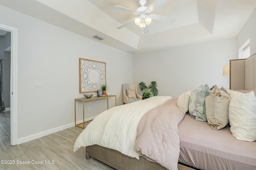
[[(10, 146), (0, 140), (0, 160), (14, 163), (1, 163), (0, 170), (114, 170), (94, 158), (87, 160), (84, 148), (73, 152), (76, 138), (82, 130), (78, 127), (71, 127), (16, 146)], [(30, 164), (19, 165), (17, 162), (20, 161), (29, 161)], [(32, 164), (33, 161), (42, 162)], [(46, 164), (48, 161), (54, 161), (54, 164), (53, 162)], [(190, 170), (180, 164), (178, 168)]]

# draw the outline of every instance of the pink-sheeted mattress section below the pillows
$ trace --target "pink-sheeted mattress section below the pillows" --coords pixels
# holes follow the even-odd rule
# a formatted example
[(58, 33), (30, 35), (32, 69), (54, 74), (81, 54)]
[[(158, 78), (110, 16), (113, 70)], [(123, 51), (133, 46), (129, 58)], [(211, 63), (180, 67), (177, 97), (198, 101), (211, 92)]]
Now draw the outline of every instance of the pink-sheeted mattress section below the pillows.
[(179, 162), (202, 170), (256, 170), (256, 141), (236, 140), (229, 126), (214, 130), (186, 114), (178, 130)]

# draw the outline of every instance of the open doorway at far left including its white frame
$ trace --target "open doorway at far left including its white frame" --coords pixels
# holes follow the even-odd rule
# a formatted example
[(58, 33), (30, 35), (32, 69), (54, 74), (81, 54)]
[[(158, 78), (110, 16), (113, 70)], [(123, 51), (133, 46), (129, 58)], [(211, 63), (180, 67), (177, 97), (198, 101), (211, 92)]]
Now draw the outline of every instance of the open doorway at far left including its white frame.
[[(9, 144), (10, 145), (17, 145), (18, 144), (18, 128), (17, 128), (17, 68), (18, 68), (18, 62), (17, 62), (17, 51), (18, 51), (18, 29), (14, 28), (14, 27), (10, 27), (8, 25), (4, 25), (0, 23), (0, 30), (2, 31), (6, 31), (8, 33), (10, 33), (10, 48), (7, 48), (5, 51), (6, 56), (9, 54), (10, 55), (10, 85), (9, 85), (9, 95), (7, 94), (8, 97), (10, 97), (10, 111), (9, 111), (9, 118), (8, 118), (8, 111), (6, 112), (0, 112), (0, 113), (4, 113), (2, 114), (1, 119), (4, 120), (6, 122), (6, 124), (2, 125), (2, 129), (4, 129), (4, 131), (6, 131), (6, 133), (8, 133), (8, 135), (10, 135), (9, 137)], [(6, 60), (3, 57), (3, 60), (8, 63), (8, 60), (6, 58)], [(6, 97), (6, 98), (8, 98)], [(7, 102), (7, 100), (6, 100)], [(0, 121), (1, 121), (0, 119)], [(9, 120), (9, 121), (8, 121)], [(4, 121), (2, 121), (2, 123), (4, 123)], [(10, 125), (10, 130), (8, 130), (8, 126), (6, 125)], [(3, 128), (5, 127), (5, 128)], [(7, 127), (7, 128), (6, 128)], [(3, 132), (3, 131), (2, 131)], [(0, 132), (1, 133), (1, 132)], [(2, 142), (2, 141), (1, 141)], [(7, 145), (8, 140), (2, 142), (4, 143), (3, 145)]]

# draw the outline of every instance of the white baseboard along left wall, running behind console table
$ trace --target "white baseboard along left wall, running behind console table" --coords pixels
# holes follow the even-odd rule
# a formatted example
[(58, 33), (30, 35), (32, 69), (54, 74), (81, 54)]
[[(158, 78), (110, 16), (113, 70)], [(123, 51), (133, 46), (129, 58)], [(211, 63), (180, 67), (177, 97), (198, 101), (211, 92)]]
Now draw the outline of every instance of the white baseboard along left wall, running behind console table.
[[(87, 119), (84, 119), (84, 121), (92, 120), (95, 117), (96, 116), (89, 117)], [(82, 123), (82, 122), (83, 122), (83, 120), (77, 121), (77, 123)], [(55, 133), (55, 132), (58, 132), (58, 131), (62, 131), (64, 129), (68, 129), (68, 128), (73, 127), (73, 126), (75, 126), (75, 122), (69, 123), (69, 124), (66, 124), (66, 125), (63, 125), (63, 126), (60, 126), (60, 127), (55, 127), (53, 129), (49, 129), (47, 131), (39, 132), (39, 133), (36, 133), (36, 134), (33, 134), (33, 135), (29, 135), (27, 137), (22, 137), (22, 138), (18, 139), (17, 143), (18, 144), (22, 144), (22, 143), (25, 143), (25, 142), (28, 142), (28, 141), (32, 141), (34, 139), (38, 139), (40, 137), (44, 137), (46, 135), (50, 135), (52, 133)]]

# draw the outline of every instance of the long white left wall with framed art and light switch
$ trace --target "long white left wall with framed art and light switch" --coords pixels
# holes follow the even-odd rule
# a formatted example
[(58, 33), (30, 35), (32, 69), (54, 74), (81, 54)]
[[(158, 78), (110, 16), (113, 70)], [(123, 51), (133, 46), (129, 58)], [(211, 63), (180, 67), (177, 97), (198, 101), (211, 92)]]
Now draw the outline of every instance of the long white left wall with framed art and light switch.
[[(74, 123), (74, 99), (84, 97), (79, 58), (106, 62), (110, 93), (122, 104), (121, 85), (132, 83), (132, 55), (3, 6), (0, 16), (0, 23), (18, 28), (18, 140)], [(101, 105), (106, 101), (91, 103), (87, 116)]]

